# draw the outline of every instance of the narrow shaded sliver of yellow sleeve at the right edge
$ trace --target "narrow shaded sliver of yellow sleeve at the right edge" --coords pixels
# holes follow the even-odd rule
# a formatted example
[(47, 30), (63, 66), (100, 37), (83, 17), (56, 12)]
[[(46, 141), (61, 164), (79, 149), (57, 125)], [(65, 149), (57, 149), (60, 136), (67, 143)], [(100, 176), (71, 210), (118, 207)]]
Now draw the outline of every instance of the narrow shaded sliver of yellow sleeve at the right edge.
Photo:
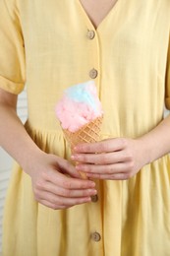
[(167, 109), (170, 110), (170, 42), (169, 42), (167, 70), (166, 70), (165, 106)]

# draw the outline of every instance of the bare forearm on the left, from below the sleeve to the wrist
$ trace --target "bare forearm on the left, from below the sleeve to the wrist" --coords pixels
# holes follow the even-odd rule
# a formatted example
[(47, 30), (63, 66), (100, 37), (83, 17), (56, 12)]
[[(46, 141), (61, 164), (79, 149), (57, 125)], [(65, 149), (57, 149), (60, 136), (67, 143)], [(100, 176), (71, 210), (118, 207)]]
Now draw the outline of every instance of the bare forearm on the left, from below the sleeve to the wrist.
[(0, 120), (0, 146), (25, 168), (40, 150), (28, 136), (12, 106), (0, 104)]

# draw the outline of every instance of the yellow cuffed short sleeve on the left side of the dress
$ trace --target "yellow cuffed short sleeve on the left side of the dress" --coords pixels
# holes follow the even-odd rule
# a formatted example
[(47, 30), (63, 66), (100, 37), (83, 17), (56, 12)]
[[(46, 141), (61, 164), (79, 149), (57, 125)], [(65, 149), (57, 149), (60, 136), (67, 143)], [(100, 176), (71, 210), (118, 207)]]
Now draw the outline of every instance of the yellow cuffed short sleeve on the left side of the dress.
[(0, 0), (0, 88), (18, 95), (25, 86), (25, 46), (15, 0)]

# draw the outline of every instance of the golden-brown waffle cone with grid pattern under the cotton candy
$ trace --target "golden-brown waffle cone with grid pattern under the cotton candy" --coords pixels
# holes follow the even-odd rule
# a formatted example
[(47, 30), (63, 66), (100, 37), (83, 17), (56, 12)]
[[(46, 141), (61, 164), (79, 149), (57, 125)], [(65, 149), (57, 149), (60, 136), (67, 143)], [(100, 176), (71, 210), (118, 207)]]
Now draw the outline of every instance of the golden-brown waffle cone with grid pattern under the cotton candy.
[[(76, 132), (70, 132), (63, 129), (65, 138), (71, 147), (72, 154), (74, 147), (81, 143), (94, 143), (100, 140), (100, 130), (103, 117), (97, 117), (89, 123), (85, 124)], [(86, 179), (85, 172), (80, 171), (81, 176)]]

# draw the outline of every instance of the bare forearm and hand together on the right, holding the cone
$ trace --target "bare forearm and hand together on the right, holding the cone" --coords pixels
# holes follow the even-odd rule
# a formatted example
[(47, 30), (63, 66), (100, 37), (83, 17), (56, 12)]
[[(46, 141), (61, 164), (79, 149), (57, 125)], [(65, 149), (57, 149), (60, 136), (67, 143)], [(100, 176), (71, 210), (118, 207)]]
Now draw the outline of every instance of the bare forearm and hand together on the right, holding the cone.
[(75, 148), (73, 160), (87, 177), (124, 180), (133, 177), (145, 164), (170, 152), (170, 116), (138, 139), (114, 138)]

